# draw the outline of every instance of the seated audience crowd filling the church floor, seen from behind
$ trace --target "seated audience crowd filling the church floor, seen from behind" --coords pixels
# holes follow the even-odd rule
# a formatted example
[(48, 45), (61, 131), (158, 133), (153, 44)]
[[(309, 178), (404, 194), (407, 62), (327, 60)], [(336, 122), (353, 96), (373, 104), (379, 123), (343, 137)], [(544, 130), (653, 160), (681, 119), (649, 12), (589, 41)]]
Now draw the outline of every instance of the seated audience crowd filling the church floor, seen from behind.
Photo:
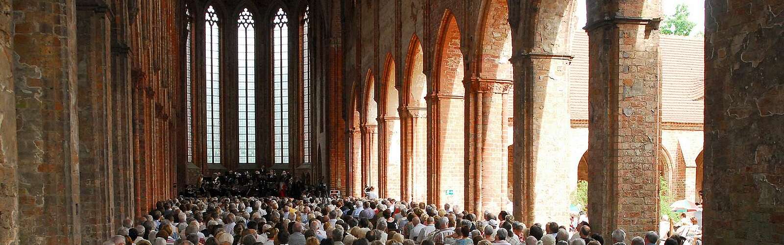
[[(457, 206), (363, 197), (180, 196), (122, 221), (104, 245), (601, 245), (626, 244), (622, 229), (604, 238), (585, 220), (530, 226), (502, 211), (477, 215)], [(282, 193), (278, 193), (282, 194)], [(369, 198), (368, 198), (369, 197)], [(632, 245), (690, 243), (648, 232)]]

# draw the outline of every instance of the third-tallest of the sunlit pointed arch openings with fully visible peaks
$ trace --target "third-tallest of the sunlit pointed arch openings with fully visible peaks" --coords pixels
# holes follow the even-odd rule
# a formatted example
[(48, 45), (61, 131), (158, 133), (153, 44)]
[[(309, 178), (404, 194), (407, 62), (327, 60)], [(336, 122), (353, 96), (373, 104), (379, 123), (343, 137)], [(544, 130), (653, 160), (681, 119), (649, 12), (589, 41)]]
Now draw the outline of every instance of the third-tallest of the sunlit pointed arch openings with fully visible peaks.
[(387, 54), (381, 91), (379, 116), (379, 194), (400, 199), (401, 196), (401, 122), (395, 87), (395, 65), (391, 54)]

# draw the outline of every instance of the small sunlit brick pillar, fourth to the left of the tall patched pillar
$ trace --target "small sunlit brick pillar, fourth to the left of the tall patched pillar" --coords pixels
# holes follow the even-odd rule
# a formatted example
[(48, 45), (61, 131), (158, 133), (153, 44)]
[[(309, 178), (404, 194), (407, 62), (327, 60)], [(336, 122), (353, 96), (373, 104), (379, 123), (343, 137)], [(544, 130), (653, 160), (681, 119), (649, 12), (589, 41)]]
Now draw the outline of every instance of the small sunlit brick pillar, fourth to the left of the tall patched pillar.
[(401, 107), (401, 199), (426, 201), (427, 108)]

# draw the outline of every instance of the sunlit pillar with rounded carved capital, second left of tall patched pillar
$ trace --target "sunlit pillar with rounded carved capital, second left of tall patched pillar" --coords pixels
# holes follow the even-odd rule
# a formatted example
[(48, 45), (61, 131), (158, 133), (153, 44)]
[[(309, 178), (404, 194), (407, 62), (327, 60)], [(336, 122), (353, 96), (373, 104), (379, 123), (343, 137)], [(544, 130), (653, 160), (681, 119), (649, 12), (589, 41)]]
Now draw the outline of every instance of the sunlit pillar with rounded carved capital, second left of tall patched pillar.
[(503, 100), (512, 81), (472, 78), (466, 91), (466, 210), (506, 209), (506, 144)]

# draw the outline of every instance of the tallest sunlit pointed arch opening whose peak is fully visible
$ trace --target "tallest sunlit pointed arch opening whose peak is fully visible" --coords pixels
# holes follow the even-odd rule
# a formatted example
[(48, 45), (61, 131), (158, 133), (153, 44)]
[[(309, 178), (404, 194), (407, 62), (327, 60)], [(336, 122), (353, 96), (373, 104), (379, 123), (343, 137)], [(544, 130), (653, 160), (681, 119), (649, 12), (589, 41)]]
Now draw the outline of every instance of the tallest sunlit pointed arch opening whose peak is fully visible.
[(436, 74), (428, 102), (431, 131), (428, 137), (430, 167), (433, 177), (428, 184), (430, 201), (463, 203), (465, 185), (465, 94), (463, 86), (463, 53), (460, 50), (460, 30), (455, 16), (448, 10), (441, 21), (441, 32), (436, 46), (434, 67)]

